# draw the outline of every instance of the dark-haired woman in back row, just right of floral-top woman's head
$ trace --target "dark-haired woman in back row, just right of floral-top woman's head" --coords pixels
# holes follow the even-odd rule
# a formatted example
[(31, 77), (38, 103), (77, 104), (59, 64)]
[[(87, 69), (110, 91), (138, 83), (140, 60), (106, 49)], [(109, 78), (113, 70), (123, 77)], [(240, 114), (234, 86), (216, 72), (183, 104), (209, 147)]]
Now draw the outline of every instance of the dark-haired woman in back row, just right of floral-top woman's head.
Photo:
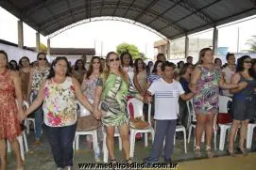
[(80, 85), (83, 82), (83, 77), (86, 74), (85, 63), (82, 59), (77, 59), (75, 63), (75, 70), (73, 72), (73, 76), (77, 78), (77, 81)]

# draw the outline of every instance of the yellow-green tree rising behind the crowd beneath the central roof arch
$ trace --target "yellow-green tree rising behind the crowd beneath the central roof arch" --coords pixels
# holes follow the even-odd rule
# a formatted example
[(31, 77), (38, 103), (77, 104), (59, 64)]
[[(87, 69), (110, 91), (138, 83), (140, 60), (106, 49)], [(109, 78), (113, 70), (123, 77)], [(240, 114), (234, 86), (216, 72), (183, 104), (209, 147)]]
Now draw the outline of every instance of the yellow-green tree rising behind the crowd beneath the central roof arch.
[(137, 59), (137, 58), (140, 58), (141, 57), (141, 54), (139, 52), (139, 49), (138, 47), (136, 47), (135, 45), (133, 44), (128, 44), (126, 42), (123, 42), (121, 44), (119, 44), (117, 47), (116, 47), (116, 53), (117, 54), (122, 54), (124, 52), (128, 52), (129, 54), (131, 54), (132, 56), (132, 59)]

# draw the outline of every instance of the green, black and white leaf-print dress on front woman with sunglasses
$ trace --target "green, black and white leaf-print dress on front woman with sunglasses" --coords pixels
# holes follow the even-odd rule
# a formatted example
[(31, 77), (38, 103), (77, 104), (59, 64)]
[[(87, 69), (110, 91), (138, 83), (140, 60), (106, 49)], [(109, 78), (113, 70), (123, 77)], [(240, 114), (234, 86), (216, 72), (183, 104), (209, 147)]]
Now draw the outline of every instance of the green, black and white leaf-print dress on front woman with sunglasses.
[(138, 95), (130, 80), (126, 83), (121, 76), (110, 72), (106, 81), (103, 80), (103, 74), (101, 74), (97, 85), (103, 86), (101, 94), (102, 124), (107, 127), (128, 124), (127, 97)]

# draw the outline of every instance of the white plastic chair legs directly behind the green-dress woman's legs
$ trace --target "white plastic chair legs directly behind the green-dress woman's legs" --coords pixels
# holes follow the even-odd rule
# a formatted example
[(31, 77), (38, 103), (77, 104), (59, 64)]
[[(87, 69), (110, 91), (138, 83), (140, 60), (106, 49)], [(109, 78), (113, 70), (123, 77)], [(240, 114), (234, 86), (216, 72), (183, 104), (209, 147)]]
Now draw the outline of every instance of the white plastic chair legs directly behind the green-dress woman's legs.
[[(108, 147), (107, 147), (107, 141), (106, 141), (106, 137), (107, 137), (107, 134), (106, 134), (106, 131), (105, 131), (105, 128), (103, 128), (103, 162), (108, 162), (109, 160), (109, 150), (108, 150)], [(122, 140), (121, 140), (121, 137), (120, 137), (120, 133), (117, 129), (117, 127), (115, 127), (114, 129), (114, 134), (113, 134), (114, 137), (118, 137), (118, 142), (119, 142), (119, 150), (122, 150)]]

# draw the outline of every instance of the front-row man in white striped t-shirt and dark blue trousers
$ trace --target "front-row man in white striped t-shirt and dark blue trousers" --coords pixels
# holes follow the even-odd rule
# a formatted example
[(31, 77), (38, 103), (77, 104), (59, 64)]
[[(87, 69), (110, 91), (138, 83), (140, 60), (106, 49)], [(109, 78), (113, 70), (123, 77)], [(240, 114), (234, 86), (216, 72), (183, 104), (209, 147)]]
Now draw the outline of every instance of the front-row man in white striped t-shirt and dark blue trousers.
[(171, 162), (171, 154), (174, 149), (174, 135), (176, 131), (179, 97), (182, 100), (190, 100), (194, 94), (184, 94), (182, 86), (174, 80), (174, 63), (168, 61), (162, 64), (163, 77), (154, 81), (148, 88), (150, 95), (155, 95), (155, 116), (156, 128), (155, 139), (152, 151), (149, 157), (145, 158), (145, 162), (158, 162), (163, 147), (164, 162)]

